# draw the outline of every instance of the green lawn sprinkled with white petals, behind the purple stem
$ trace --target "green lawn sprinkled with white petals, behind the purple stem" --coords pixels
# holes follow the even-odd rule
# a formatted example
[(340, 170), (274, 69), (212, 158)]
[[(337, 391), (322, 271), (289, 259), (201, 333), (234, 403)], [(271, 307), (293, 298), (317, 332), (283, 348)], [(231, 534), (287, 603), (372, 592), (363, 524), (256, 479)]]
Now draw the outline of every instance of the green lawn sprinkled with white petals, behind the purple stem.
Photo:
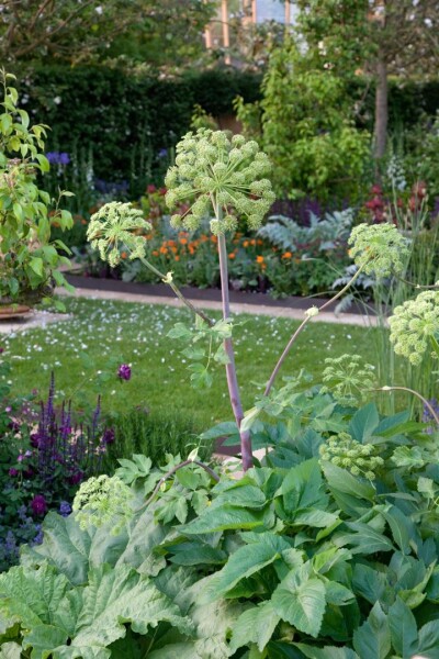
[[(185, 310), (105, 300), (67, 299), (71, 320), (2, 339), (3, 357), (12, 364), (13, 393), (37, 389), (46, 394), (55, 373), (58, 401), (72, 399), (76, 409), (102, 396), (102, 411), (126, 412), (142, 405), (151, 412), (168, 406), (191, 413), (200, 429), (230, 418), (223, 367), (215, 367), (213, 387), (190, 387), (184, 347), (167, 333), (189, 321)], [(218, 317), (219, 314), (212, 314)], [(241, 315), (235, 330), (236, 361), (245, 409), (252, 405), (297, 322)], [(304, 368), (316, 377), (328, 356), (357, 353), (373, 359), (374, 330), (315, 322), (296, 343), (283, 368), (291, 376)], [(130, 381), (116, 376), (119, 364), (132, 366)], [(373, 361), (372, 361), (373, 362)]]

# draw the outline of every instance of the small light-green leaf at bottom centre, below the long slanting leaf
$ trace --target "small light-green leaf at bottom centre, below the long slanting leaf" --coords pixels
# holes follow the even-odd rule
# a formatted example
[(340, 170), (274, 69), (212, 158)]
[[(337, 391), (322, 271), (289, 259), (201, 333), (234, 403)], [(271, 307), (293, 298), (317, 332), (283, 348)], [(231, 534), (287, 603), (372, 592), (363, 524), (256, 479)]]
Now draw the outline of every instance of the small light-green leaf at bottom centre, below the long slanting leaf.
[(256, 643), (263, 650), (280, 621), (272, 602), (261, 602), (258, 606), (245, 611), (232, 629), (230, 650)]

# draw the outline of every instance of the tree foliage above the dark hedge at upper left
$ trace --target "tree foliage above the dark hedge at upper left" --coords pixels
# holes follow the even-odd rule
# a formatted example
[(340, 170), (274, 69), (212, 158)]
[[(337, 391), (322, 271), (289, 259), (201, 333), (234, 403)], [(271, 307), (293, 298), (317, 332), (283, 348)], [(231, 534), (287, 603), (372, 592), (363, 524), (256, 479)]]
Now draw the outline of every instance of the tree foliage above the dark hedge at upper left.
[(3, 60), (22, 66), (120, 58), (125, 64), (146, 63), (175, 71), (203, 59), (203, 52), (204, 59), (209, 58), (201, 34), (214, 10), (215, 0), (164, 0), (160, 7), (145, 0), (109, 0), (105, 5), (90, 0), (78, 7), (74, 0), (64, 0), (42, 11), (31, 0), (4, 8), (0, 54)]

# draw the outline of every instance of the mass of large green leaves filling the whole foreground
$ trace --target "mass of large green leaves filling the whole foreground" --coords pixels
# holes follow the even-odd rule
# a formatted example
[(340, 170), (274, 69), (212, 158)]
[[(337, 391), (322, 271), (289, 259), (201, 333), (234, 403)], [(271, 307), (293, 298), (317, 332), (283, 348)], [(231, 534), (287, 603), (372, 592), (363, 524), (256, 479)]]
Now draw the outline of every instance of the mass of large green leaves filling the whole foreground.
[[(392, 457), (428, 436), (371, 405), (333, 406), (329, 418), (380, 447), (385, 466), (373, 484), (331, 462), (322, 470), (313, 453), (334, 433), (309, 431), (308, 420), (330, 396), (302, 387), (301, 424), (292, 403), (275, 425), (259, 423), (254, 435), (270, 451), (240, 480), (223, 473), (213, 484), (189, 465), (145, 507), (158, 481), (137, 455), (120, 470), (132, 513), (117, 536), (114, 520), (86, 529), (49, 514), (43, 545), (0, 578), (2, 647), (59, 659), (436, 657), (439, 517), (426, 493), (439, 491), (439, 477), (436, 462)], [(188, 506), (181, 524), (179, 501), (196, 494), (204, 503)]]

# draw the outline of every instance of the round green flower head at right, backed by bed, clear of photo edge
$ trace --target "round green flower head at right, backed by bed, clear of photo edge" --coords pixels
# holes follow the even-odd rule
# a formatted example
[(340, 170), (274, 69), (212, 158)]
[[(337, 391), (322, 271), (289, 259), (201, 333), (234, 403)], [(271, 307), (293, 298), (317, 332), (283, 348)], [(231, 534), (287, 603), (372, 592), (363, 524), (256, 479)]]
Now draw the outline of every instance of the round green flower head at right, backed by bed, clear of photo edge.
[(408, 242), (394, 224), (359, 224), (348, 241), (349, 255), (368, 275), (378, 278), (401, 272), (408, 257)]

